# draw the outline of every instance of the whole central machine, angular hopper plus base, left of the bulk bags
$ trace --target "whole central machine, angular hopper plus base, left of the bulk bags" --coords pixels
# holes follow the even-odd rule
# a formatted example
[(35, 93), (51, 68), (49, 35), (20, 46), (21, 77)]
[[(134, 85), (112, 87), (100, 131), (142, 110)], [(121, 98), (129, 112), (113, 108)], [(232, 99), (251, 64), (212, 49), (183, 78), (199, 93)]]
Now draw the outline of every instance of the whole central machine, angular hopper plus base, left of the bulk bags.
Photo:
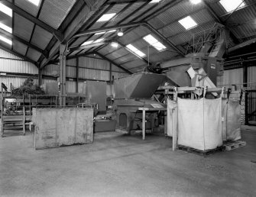
[(154, 92), (164, 82), (166, 76), (155, 73), (136, 73), (114, 80), (116, 114), (116, 131), (129, 134), (132, 129), (141, 128), (141, 111), (139, 108), (156, 109), (147, 115), (146, 128), (154, 128), (157, 108), (166, 108), (163, 103), (153, 99)]

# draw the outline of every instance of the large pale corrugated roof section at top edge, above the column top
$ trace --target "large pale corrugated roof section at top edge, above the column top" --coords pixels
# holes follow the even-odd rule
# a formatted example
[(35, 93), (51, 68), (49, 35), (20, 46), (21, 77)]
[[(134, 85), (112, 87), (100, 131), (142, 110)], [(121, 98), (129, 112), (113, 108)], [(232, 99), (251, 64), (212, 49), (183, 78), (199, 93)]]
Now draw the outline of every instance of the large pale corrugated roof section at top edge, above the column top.
[(39, 19), (57, 29), (76, 0), (45, 0)]

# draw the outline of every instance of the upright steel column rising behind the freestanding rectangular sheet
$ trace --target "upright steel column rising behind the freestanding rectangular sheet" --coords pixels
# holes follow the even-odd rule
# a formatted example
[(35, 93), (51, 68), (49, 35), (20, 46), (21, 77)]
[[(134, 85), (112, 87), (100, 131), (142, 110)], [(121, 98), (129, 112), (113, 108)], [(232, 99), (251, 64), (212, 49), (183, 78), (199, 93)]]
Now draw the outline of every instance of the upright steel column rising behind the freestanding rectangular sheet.
[(60, 44), (60, 107), (66, 106), (66, 44)]

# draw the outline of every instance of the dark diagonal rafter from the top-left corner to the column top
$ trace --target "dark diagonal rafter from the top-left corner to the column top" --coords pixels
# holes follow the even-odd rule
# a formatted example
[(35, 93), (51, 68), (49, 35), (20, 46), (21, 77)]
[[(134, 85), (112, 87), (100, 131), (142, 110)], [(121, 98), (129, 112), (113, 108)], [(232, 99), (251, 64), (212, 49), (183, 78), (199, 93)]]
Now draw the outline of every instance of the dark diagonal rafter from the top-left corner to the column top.
[(60, 31), (55, 30), (50, 25), (44, 23), (43, 21), (35, 18), (31, 14), (29, 14), (27, 11), (24, 11), (23, 9), (19, 8), (15, 4), (12, 4), (11, 2), (8, 2), (7, 0), (1, 0), (2, 4), (6, 5), (8, 8), (11, 8), (15, 13), (18, 15), (21, 15), (22, 17), (28, 19), (29, 21), (33, 22), (34, 24), (37, 24), (38, 26), (44, 28), (44, 30), (49, 31), (52, 33), (55, 37), (57, 37), (58, 40), (61, 40), (62, 34)]

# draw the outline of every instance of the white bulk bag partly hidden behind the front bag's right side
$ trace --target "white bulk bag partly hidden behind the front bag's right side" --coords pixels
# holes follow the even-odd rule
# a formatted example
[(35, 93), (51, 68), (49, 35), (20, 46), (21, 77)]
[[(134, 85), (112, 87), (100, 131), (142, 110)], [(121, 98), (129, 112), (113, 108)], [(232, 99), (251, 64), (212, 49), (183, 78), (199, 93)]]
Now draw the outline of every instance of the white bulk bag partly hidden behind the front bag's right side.
[(241, 139), (241, 106), (238, 101), (222, 99), (222, 138)]

